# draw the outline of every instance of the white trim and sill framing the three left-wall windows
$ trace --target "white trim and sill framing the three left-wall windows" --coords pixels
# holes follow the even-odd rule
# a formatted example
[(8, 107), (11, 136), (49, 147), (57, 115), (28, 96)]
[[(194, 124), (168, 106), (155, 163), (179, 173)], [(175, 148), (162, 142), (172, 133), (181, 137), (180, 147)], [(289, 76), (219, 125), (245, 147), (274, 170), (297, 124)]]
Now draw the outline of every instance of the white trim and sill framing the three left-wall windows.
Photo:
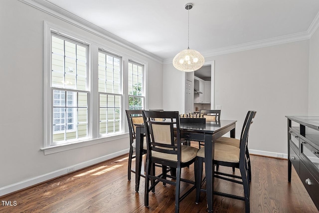
[[(50, 98), (50, 92), (51, 92), (51, 87), (48, 86), (50, 85), (51, 79), (50, 79), (50, 64), (51, 64), (51, 56), (50, 56), (50, 46), (51, 46), (51, 30), (58, 34), (62, 34), (66, 37), (73, 38), (74, 40), (77, 40), (78, 42), (87, 44), (89, 46), (89, 55), (88, 55), (88, 63), (89, 63), (89, 70), (88, 70), (88, 78), (91, 80), (88, 80), (88, 87), (90, 88), (90, 94), (92, 95), (91, 98), (89, 98), (88, 102), (88, 107), (92, 110), (89, 112), (89, 120), (88, 120), (88, 128), (89, 132), (91, 132), (91, 138), (94, 139), (86, 139), (83, 141), (77, 141), (73, 143), (66, 143), (62, 145), (57, 145), (57, 146), (50, 146), (50, 120), (51, 120), (51, 113), (50, 109), (51, 106), (51, 98)], [(63, 33), (62, 33), (63, 32)], [(94, 31), (89, 31), (92, 34), (97, 35)], [(65, 33), (65, 34), (64, 34)], [(85, 42), (85, 41), (90, 41), (90, 43)], [(119, 47), (122, 45), (119, 44)], [(125, 47), (125, 46), (122, 46)], [(93, 88), (92, 83), (94, 81), (97, 81), (97, 74), (93, 75), (92, 69), (93, 69), (93, 64), (97, 64), (97, 54), (98, 50), (102, 49), (106, 52), (110, 52), (114, 55), (119, 55), (122, 56), (122, 89), (123, 89), (123, 94), (122, 94), (122, 130), (123, 133), (117, 134), (117, 135), (109, 135), (106, 137), (99, 137), (99, 115), (96, 112), (97, 109), (97, 102), (93, 103), (93, 100), (98, 99), (98, 92), (97, 92), (97, 87)], [(129, 49), (132, 51), (132, 49)], [(109, 141), (114, 141), (114, 140), (119, 140), (123, 138), (129, 138), (128, 134), (128, 124), (127, 124), (127, 119), (125, 119), (126, 113), (125, 110), (128, 109), (128, 63), (129, 61), (134, 61), (139, 64), (144, 65), (144, 98), (145, 98), (145, 103), (144, 107), (145, 109), (148, 108), (148, 102), (147, 102), (147, 97), (148, 97), (148, 85), (147, 85), (147, 80), (148, 80), (148, 62), (144, 61), (143, 59), (140, 58), (134, 58), (127, 53), (121, 52), (120, 50), (115, 50), (112, 47), (105, 46), (103, 43), (99, 43), (94, 41), (93, 39), (89, 39), (86, 37), (83, 37), (79, 35), (78, 33), (74, 33), (69, 31), (66, 28), (60, 27), (58, 25), (52, 24), (48, 21), (44, 21), (44, 56), (43, 56), (43, 148), (42, 150), (44, 152), (44, 155), (48, 154), (53, 154), (53, 153), (58, 153), (58, 152), (63, 152), (67, 150), (72, 150), (76, 148), (81, 148), (81, 147), (86, 147), (90, 145), (95, 145), (99, 143), (106, 143)], [(134, 50), (133, 50), (134, 52)], [(95, 63), (94, 63), (95, 62)], [(94, 97), (96, 96), (96, 97)], [(94, 121), (94, 122), (93, 122)], [(93, 131), (95, 130), (95, 131)]]

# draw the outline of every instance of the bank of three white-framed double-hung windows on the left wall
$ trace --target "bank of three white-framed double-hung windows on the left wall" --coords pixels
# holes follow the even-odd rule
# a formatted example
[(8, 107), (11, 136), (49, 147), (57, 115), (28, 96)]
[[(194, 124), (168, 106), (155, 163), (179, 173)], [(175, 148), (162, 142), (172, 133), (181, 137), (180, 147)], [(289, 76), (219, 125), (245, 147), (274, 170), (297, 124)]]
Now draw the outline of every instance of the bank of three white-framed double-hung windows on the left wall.
[[(67, 29), (44, 26), (44, 154), (126, 138), (128, 101), (130, 108), (145, 108), (145, 66)], [(130, 65), (125, 70), (123, 61)]]

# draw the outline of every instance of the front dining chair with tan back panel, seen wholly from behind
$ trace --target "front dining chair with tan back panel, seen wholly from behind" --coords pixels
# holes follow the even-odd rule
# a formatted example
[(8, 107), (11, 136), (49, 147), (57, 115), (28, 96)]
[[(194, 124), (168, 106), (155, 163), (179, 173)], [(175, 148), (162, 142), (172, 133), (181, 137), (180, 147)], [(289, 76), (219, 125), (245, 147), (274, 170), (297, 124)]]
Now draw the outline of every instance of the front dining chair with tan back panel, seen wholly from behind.
[[(147, 139), (145, 207), (149, 206), (149, 193), (155, 192), (156, 185), (162, 182), (175, 186), (175, 213), (178, 213), (179, 202), (196, 187), (194, 181), (181, 178), (181, 168), (188, 167), (193, 163), (196, 167), (198, 149), (181, 144), (178, 111), (142, 111), (142, 115)], [(175, 141), (174, 135), (177, 141)], [(155, 173), (155, 164), (162, 165), (160, 175)], [(175, 176), (168, 175), (166, 172), (168, 167), (176, 169)], [(194, 169), (194, 178), (195, 173), (196, 168)], [(182, 196), (180, 196), (181, 181), (193, 185)]]

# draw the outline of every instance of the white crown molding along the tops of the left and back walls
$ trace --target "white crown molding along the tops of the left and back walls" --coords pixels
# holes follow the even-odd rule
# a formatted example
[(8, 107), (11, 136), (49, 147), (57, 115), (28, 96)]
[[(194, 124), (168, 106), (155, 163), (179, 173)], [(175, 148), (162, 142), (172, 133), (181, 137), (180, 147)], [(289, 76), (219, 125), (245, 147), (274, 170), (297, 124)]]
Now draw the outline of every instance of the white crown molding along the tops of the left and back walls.
[[(39, 9), (43, 12), (46, 12), (54, 17), (57, 17), (61, 20), (64, 20), (72, 25), (75, 25), (81, 29), (84, 29), (88, 32), (91, 32), (99, 37), (102, 37), (112, 43), (115, 43), (121, 47), (124, 47), (128, 50), (131, 50), (135, 53), (138, 53), (142, 56), (145, 56), (149, 59), (155, 60), (162, 64), (168, 64), (172, 63), (172, 58), (165, 58), (162, 59), (161, 57), (133, 44), (129, 41), (114, 35), (113, 33), (102, 29), (101, 27), (94, 25), (93, 23), (65, 10), (61, 7), (56, 6), (55, 4), (48, 2), (46, 0), (19, 0), (23, 3), (26, 3), (36, 9)], [(269, 39), (263, 39), (259, 41), (254, 42), (248, 42), (244, 44), (238, 44), (234, 46), (228, 46), (224, 48), (218, 48), (218, 49), (212, 49), (209, 51), (201, 52), (201, 54), (204, 57), (211, 57), (216, 55), (223, 55), (223, 54), (229, 54), (239, 51), (245, 51), (245, 50), (251, 50), (256, 48), (262, 48), (262, 47), (268, 47), (273, 45), (279, 45), (284, 43), (290, 43), (290, 42), (296, 42), (296, 41), (302, 41), (307, 40), (312, 37), (312, 35), (316, 32), (316, 30), (319, 28), (319, 12), (317, 13), (315, 19), (310, 24), (309, 28), (305, 32), (300, 33), (294, 33)]]

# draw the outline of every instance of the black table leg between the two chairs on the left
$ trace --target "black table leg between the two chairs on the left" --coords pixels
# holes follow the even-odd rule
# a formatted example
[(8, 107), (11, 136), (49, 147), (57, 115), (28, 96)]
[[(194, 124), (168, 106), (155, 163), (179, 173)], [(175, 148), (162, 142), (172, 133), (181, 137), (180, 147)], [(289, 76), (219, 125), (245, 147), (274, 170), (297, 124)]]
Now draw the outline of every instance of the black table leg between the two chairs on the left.
[(143, 139), (144, 139), (144, 134), (141, 134), (141, 128), (136, 127), (135, 192), (139, 192), (139, 187), (140, 187), (142, 157), (143, 157)]

